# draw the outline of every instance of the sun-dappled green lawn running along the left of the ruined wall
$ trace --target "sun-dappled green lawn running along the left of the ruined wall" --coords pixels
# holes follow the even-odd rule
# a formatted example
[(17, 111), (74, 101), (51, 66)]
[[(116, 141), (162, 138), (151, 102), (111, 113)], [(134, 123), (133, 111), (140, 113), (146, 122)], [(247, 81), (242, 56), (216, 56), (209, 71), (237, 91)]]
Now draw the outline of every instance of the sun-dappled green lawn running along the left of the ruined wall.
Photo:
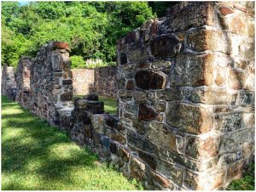
[(66, 133), (2, 97), (3, 190), (136, 190)]

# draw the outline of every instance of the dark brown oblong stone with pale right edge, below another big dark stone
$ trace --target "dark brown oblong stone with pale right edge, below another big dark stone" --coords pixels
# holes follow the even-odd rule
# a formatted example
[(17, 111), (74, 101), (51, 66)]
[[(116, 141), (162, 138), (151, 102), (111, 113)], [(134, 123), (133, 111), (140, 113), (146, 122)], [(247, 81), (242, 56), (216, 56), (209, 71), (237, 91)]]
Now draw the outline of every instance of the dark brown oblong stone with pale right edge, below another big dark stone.
[(166, 76), (161, 72), (137, 71), (135, 81), (138, 88), (162, 89), (166, 86)]

